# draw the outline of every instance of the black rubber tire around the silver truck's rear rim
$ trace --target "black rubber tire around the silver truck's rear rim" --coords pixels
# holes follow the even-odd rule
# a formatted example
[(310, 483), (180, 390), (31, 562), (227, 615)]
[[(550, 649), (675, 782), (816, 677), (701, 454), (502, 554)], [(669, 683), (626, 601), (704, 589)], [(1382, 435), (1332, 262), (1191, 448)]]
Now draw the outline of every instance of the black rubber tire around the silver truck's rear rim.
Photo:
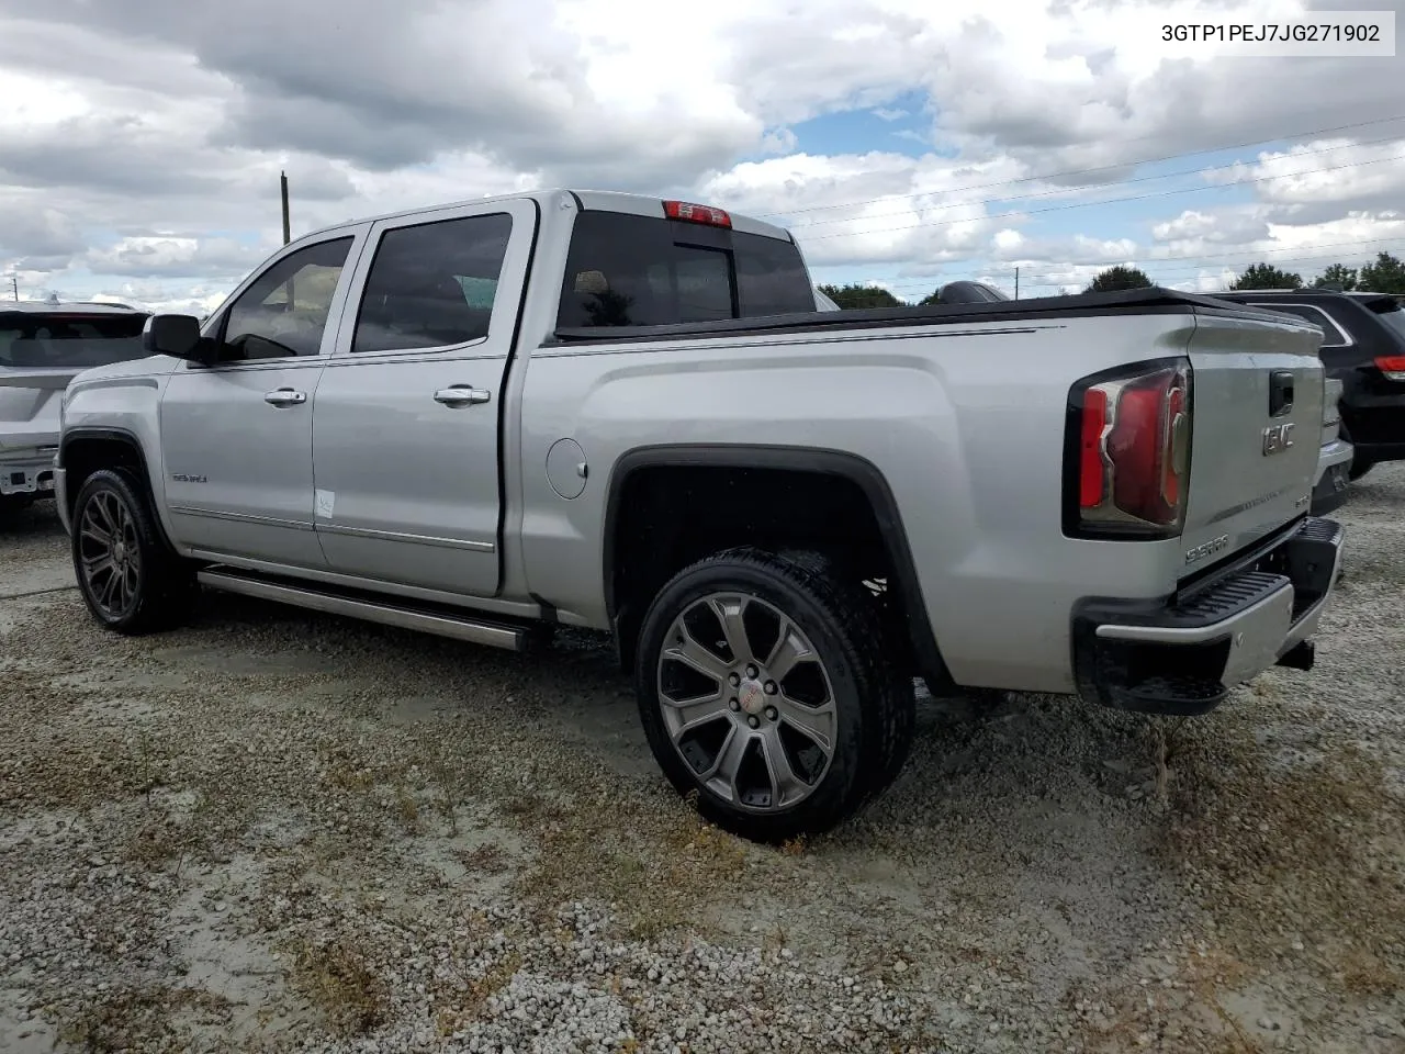
[[(778, 555), (757, 548), (728, 549), (679, 572), (659, 590), (645, 613), (635, 663), (635, 690), (639, 718), (653, 756), (680, 794), (695, 795), (695, 805), (707, 819), (742, 838), (780, 842), (837, 826), (896, 779), (912, 746), (916, 708), (912, 679), (895, 672), (889, 663), (888, 632), (873, 597), (858, 583), (836, 576), (833, 566), (825, 557), (812, 552)], [(759, 600), (760, 604), (756, 606), (760, 611), (756, 617), (759, 623), (753, 623), (753, 627), (764, 624), (771, 616), (788, 620), (818, 659), (818, 662), (801, 661), (792, 672), (798, 673), (804, 666), (806, 676), (802, 679), (809, 680), (811, 687), (819, 677), (829, 700), (821, 705), (830, 711), (825, 715), (826, 724), (833, 729), (832, 735), (826, 736), (830, 739), (830, 750), (822, 770), (808, 776), (799, 772), (804, 766), (797, 766), (801, 759), (799, 752), (809, 750), (805, 756), (813, 759), (815, 750), (823, 753), (823, 746), (819, 739), (798, 734), (795, 729), (801, 725), (791, 725), (784, 715), (778, 720), (771, 717), (774, 707), (767, 705), (760, 711), (766, 717), (757, 711), (752, 713), (757, 721), (774, 722), (774, 729), (769, 727), (756, 729), (753, 725), (754, 735), (739, 724), (750, 720), (742, 708), (732, 708), (735, 717), (718, 714), (707, 718), (708, 724), (702, 727), (711, 729), (710, 735), (724, 738), (715, 749), (714, 763), (718, 767), (722, 753), (732, 742), (725, 736), (745, 738), (747, 745), (740, 750), (742, 762), (738, 765), (738, 772), (743, 766), (750, 766), (754, 774), (766, 774), (770, 788), (764, 793), (764, 801), (756, 797), (760, 791), (754, 793), (750, 802), (742, 801), (745, 795), (736, 779), (732, 780), (732, 795), (724, 795), (708, 786), (700, 779), (695, 765), (683, 756), (684, 749), (700, 748), (691, 742), (676, 746), (669, 729), (669, 721), (674, 718), (667, 713), (674, 710), (681, 713), (683, 707), (666, 701), (660, 684), (665, 672), (677, 669), (679, 663), (670, 658), (667, 666), (660, 666), (660, 661), (665, 649), (676, 645), (677, 625), (684, 614), (700, 610), (705, 614), (705, 610), (710, 610), (707, 609), (710, 597), (717, 594), (735, 594), (739, 603), (747, 604), (747, 613), (752, 610), (750, 604)], [(738, 618), (740, 617), (738, 614)], [(719, 620), (714, 625), (722, 628)], [(764, 625), (760, 631), (766, 632)], [(670, 634), (674, 634), (672, 639)], [(726, 656), (732, 649), (724, 641), (717, 641), (717, 648), (708, 651), (711, 652), (708, 663), (717, 663), (714, 669), (722, 669), (731, 662)], [(776, 653), (776, 649), (770, 649), (767, 659)], [(819, 673), (816, 675), (806, 663), (816, 666)], [(762, 666), (764, 677), (764, 661)], [(704, 682), (715, 682), (724, 696), (729, 690), (729, 683), (719, 676), (704, 673), (697, 676)], [(756, 700), (783, 701), (785, 707), (794, 708), (797, 703), (792, 698), (792, 687), (787, 684), (790, 676), (777, 675), (781, 682), (778, 696), (757, 696), (759, 679), (743, 680), (736, 691), (745, 691), (750, 684), (749, 704)], [(774, 682), (767, 684), (767, 693), (773, 689), (776, 689)], [(702, 732), (697, 735), (701, 738)], [(788, 745), (781, 749), (790, 767), (797, 773), (799, 780), (797, 786), (802, 797), (791, 804), (773, 807), (778, 780), (770, 765), (770, 755), (764, 750), (774, 746), (767, 748), (764, 743), (781, 743), (783, 736), (788, 736)], [(797, 736), (806, 741), (808, 746), (797, 746)], [(764, 743), (753, 753), (752, 745), (762, 739)], [(784, 790), (780, 794), (784, 800)]]

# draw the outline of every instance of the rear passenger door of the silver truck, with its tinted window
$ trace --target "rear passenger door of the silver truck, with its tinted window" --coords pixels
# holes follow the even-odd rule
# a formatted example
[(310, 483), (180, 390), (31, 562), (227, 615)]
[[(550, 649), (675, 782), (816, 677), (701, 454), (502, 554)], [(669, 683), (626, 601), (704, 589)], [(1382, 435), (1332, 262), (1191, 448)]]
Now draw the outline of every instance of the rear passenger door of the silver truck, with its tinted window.
[(531, 240), (528, 201), (381, 221), (313, 429), (316, 528), (333, 571), (492, 596), (499, 419)]

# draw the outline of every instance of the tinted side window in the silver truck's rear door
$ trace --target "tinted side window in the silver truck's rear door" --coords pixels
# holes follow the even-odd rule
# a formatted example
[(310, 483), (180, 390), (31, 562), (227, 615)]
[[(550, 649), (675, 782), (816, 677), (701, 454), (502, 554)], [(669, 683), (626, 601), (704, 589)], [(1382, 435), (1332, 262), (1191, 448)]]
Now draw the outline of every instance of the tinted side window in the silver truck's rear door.
[(371, 261), (351, 351), (406, 351), (488, 336), (507, 256), (507, 214), (386, 230)]

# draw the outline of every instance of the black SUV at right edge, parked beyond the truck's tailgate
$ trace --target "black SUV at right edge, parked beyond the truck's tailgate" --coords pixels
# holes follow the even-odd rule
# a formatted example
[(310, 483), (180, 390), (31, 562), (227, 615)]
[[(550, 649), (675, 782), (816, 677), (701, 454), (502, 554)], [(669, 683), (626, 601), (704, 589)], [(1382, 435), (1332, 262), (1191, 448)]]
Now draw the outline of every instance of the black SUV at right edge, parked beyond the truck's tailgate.
[(1342, 381), (1342, 438), (1352, 479), (1405, 460), (1405, 311), (1385, 292), (1245, 289), (1217, 298), (1297, 315), (1322, 327), (1322, 365)]

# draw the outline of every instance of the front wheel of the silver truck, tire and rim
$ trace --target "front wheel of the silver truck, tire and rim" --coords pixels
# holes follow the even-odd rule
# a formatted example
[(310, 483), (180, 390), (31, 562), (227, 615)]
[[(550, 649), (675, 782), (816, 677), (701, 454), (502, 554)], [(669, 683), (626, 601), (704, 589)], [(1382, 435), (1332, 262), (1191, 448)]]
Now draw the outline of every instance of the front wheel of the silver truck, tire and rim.
[[(79, 592), (105, 628), (140, 635), (173, 628), (191, 613), (198, 586), (194, 571), (167, 544), (146, 489), (129, 472), (98, 469), (73, 502), (72, 555)], [(101, 564), (105, 528), (114, 545)], [(117, 557), (112, 557), (112, 552)]]

